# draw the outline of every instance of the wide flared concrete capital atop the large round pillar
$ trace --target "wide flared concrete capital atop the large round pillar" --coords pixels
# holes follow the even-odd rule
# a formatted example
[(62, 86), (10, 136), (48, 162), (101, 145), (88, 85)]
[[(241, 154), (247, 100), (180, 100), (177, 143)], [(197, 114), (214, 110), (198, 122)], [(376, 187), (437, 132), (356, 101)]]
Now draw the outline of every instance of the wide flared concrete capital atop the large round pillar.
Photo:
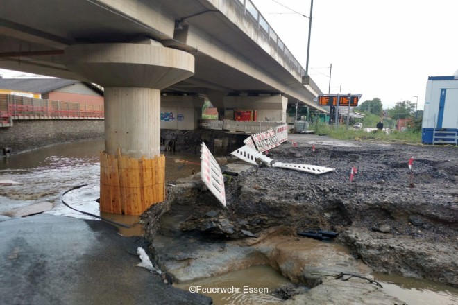
[(75, 44), (65, 49), (65, 66), (103, 87), (164, 89), (194, 75), (194, 56), (148, 43)]

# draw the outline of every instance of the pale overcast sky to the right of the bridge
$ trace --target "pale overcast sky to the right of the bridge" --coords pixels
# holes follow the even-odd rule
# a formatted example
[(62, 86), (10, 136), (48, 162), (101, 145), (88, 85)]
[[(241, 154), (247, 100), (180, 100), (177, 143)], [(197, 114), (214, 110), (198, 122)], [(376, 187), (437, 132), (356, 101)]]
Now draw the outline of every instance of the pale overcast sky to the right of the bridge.
[[(305, 69), (311, 0), (251, 0)], [(281, 14), (279, 14), (281, 13)], [(323, 93), (409, 100), (458, 69), (458, 0), (314, 0), (309, 75)]]

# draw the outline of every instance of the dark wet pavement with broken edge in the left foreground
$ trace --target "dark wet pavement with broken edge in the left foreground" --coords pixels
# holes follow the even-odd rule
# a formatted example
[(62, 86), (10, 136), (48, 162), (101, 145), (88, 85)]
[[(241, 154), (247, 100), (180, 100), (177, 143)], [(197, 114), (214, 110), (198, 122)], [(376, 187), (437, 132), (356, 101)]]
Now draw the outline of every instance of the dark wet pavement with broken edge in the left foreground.
[(144, 239), (102, 221), (39, 214), (0, 222), (0, 304), (211, 304), (136, 267)]

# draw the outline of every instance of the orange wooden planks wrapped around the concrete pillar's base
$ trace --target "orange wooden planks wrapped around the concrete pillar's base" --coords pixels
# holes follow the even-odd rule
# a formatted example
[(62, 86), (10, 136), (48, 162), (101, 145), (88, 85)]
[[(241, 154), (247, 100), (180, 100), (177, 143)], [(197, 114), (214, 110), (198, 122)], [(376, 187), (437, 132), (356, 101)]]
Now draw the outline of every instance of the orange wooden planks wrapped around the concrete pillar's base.
[(164, 155), (135, 159), (100, 153), (100, 211), (141, 215), (164, 200)]

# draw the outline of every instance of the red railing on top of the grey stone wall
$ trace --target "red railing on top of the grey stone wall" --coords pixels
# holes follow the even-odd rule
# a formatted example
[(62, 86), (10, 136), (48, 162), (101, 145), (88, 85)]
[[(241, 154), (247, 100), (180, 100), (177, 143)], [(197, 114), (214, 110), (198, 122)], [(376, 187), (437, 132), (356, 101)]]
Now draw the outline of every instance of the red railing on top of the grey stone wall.
[(0, 94), (0, 119), (103, 119), (103, 105)]

